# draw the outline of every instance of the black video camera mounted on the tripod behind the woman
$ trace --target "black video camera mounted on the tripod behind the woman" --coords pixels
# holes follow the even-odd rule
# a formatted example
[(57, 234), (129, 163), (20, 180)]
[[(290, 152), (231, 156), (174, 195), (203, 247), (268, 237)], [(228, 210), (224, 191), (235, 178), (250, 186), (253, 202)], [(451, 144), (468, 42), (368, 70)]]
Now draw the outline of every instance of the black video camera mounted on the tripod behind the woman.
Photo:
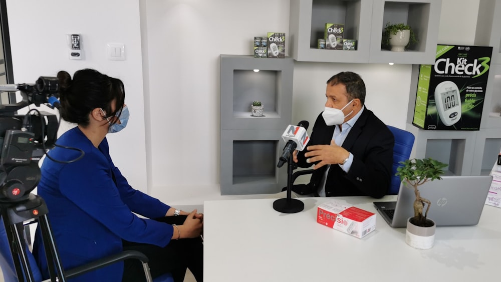
[(16, 114), (31, 104), (54, 108), (59, 98), (56, 77), (40, 77), (35, 84), (0, 85), (0, 93), (17, 91), (23, 97), (21, 102), (0, 105), (0, 202), (21, 201), (37, 187), (41, 178), (38, 163), (54, 147), (59, 128), (55, 114), (37, 109)]

